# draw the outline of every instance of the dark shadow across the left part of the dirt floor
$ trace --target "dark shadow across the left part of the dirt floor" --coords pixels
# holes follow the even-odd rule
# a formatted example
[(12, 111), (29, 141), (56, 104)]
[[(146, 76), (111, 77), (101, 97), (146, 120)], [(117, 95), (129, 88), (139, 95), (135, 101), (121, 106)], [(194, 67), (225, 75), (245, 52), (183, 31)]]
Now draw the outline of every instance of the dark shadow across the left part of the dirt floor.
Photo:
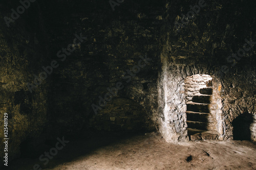
[[(33, 169), (33, 166), (35, 164), (38, 164), (42, 169), (53, 168), (66, 162), (75, 161), (79, 159), (79, 157), (93, 154), (95, 150), (101, 147), (105, 147), (107, 145), (115, 143), (122, 143), (125, 139), (129, 139), (133, 136), (142, 134), (144, 134), (144, 132), (95, 132), (87, 136), (65, 136), (65, 140), (69, 141), (69, 143), (67, 143), (66, 146), (63, 147), (63, 149), (59, 150), (52, 159), (49, 159), (49, 163), (47, 163), (46, 165), (44, 165), (46, 161), (39, 160), (40, 155), (28, 155), (23, 151), (21, 158), (9, 162), (8, 167), (3, 167), (3, 170), (28, 170)], [(61, 139), (62, 137), (59, 138)], [(44, 152), (41, 152), (41, 154), (49, 152), (51, 148), (55, 148), (57, 142), (57, 139), (55, 141), (47, 141), (49, 147), (44, 148), (45, 150)], [(44, 156), (43, 158), (46, 158), (46, 156)]]

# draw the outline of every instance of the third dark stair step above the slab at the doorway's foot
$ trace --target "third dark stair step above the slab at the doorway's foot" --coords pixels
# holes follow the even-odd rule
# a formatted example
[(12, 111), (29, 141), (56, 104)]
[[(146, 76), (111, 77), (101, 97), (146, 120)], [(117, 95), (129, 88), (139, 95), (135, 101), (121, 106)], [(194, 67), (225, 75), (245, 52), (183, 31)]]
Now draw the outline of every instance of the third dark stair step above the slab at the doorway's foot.
[(187, 102), (187, 111), (210, 113), (210, 109), (213, 109), (212, 104)]

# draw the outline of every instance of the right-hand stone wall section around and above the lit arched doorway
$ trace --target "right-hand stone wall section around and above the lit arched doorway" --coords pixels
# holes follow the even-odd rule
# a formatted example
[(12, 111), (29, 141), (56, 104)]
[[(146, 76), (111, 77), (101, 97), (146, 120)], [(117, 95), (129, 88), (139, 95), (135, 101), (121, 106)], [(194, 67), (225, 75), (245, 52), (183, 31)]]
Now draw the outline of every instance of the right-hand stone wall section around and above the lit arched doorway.
[[(207, 74), (221, 82), (222, 99), (219, 101), (223, 109), (219, 119), (223, 120), (218, 127), (223, 129), (224, 139), (232, 138), (231, 122), (234, 118), (244, 112), (255, 114), (255, 50), (246, 53), (241, 60), (233, 59), (232, 62), (237, 61), (234, 63), (228, 58), (243, 48), (245, 39), (255, 41), (252, 29), (255, 17), (250, 15), (255, 4), (206, 2), (207, 6), (177, 31), (175, 21), (181, 22), (182, 13), (186, 14), (191, 10), (189, 5), (196, 4), (197, 1), (168, 2), (163, 15), (166, 24), (161, 36), (158, 108), (160, 132), (167, 141), (187, 140), (182, 93), (183, 80), (187, 76)], [(244, 12), (237, 13), (238, 10)], [(247, 18), (246, 23), (244, 18)]]

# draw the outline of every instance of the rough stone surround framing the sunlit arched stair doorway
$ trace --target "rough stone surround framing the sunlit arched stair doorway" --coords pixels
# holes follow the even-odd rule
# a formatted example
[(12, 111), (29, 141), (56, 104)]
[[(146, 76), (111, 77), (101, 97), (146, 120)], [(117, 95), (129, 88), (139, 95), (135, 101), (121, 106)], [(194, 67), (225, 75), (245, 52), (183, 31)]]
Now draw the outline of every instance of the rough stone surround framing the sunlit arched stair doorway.
[[(166, 63), (165, 63), (166, 62)], [(158, 80), (158, 112), (159, 131), (167, 142), (188, 141), (187, 116), (185, 100), (185, 78), (197, 74), (205, 74), (212, 77), (215, 84), (215, 93), (222, 91), (222, 83), (215, 75), (216, 68), (210, 66), (179, 66), (168, 65), (163, 61), (162, 72)], [(223, 139), (225, 126), (224, 114), (222, 113), (222, 99), (215, 101), (217, 107), (215, 130), (219, 133), (218, 138)]]

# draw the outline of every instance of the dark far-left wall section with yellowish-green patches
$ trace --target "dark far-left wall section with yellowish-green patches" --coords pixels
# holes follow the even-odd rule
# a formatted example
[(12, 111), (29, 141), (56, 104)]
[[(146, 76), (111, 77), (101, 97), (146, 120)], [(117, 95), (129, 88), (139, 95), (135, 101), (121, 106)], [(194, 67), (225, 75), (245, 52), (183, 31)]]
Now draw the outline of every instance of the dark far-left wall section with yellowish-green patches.
[(0, 6), (0, 166), (4, 157), (4, 113), (8, 113), (8, 159), (20, 156), (20, 143), (40, 136), (47, 123), (49, 80), (31, 93), (27, 83), (34, 83), (46, 64), (48, 54), (45, 29), (40, 11), (34, 4), (22, 17), (7, 27), (4, 17), (20, 6), (12, 1)]

